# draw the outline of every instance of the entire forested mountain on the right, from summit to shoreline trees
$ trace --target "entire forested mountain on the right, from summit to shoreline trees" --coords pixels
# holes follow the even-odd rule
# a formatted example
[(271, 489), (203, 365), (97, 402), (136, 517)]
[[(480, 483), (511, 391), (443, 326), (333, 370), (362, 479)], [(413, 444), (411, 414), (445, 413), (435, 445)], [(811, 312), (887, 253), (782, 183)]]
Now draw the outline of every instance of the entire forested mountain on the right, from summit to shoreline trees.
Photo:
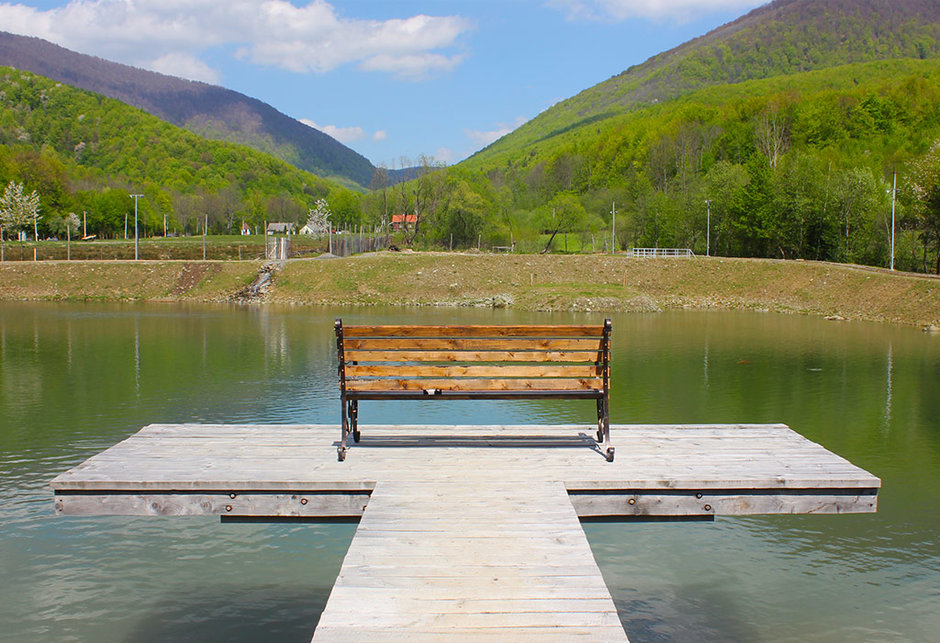
[(778, 0), (391, 195), (429, 245), (602, 249), (616, 207), (620, 248), (887, 266), (895, 172), (940, 272), (940, 2)]

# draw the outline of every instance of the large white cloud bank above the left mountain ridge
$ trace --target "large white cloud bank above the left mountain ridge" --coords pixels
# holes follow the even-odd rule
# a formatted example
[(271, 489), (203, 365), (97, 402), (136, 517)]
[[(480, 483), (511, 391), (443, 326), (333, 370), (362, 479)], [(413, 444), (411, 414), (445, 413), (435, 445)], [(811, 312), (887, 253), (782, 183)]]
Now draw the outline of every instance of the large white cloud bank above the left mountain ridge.
[(0, 4), (0, 25), (82, 53), (201, 79), (214, 76), (199, 60), (214, 47), (299, 73), (352, 64), (423, 78), (461, 62), (459, 39), (473, 27), (459, 16), (343, 18), (325, 0), (303, 6), (287, 0), (69, 0), (48, 10)]

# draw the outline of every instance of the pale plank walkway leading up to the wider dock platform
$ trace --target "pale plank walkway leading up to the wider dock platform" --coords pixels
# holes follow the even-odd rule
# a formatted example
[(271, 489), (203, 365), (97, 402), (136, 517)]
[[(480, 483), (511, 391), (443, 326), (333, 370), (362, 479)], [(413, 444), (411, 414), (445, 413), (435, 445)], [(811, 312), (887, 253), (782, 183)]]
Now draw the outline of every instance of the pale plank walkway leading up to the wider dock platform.
[[(529, 528), (517, 528), (520, 517)], [(479, 536), (481, 525), (489, 536)], [(579, 582), (559, 592), (562, 577)], [(480, 579), (491, 580), (481, 587)], [(349, 609), (364, 597), (367, 610)], [(356, 640), (365, 631), (369, 640), (442, 632), (571, 640), (592, 631), (594, 640), (626, 641), (564, 485), (498, 477), (376, 485), (313, 640)]]

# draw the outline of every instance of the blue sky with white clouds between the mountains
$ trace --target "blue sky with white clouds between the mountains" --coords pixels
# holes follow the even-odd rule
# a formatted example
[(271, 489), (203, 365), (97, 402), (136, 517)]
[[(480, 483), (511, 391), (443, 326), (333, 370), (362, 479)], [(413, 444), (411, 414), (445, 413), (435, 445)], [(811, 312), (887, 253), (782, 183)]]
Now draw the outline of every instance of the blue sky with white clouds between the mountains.
[(0, 29), (270, 103), (376, 164), (466, 158), (761, 0), (34, 0)]

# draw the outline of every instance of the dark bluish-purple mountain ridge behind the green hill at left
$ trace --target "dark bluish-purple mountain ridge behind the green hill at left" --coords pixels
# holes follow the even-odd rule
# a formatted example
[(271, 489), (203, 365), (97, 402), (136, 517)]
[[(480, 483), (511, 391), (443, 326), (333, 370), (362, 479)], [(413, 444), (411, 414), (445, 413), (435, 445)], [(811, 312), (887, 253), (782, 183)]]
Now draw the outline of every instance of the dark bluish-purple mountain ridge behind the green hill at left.
[(325, 177), (360, 186), (372, 164), (323, 132), (238, 92), (109, 62), (39, 38), (0, 32), (0, 65), (116, 98), (200, 136), (248, 145)]

